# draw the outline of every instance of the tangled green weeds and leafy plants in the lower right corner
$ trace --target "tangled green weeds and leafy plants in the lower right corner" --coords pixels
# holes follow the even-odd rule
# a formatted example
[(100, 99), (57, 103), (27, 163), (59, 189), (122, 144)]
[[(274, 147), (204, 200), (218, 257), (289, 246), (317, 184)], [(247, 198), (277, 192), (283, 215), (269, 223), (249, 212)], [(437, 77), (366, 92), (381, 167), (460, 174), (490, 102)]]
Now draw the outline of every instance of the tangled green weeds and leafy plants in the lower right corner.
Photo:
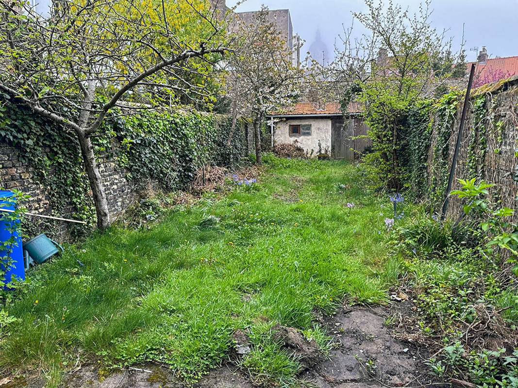
[(453, 222), (419, 214), (395, 231), (392, 244), (404, 260), (403, 284), (412, 290), (416, 312), (405, 332), (428, 345), (433, 355), (427, 364), (442, 378), (516, 386), (518, 282), (512, 265), (518, 234), (505, 219), (513, 211), (483, 199), (484, 182), (461, 183), (453, 194), (467, 198), (464, 217)]

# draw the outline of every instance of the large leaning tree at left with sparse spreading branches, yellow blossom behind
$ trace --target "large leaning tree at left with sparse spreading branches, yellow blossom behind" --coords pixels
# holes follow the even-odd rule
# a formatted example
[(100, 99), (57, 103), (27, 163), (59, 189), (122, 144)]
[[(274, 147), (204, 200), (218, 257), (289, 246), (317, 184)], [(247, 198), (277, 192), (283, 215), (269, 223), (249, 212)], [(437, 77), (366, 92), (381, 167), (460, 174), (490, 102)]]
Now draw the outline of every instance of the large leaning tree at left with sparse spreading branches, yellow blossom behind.
[[(76, 133), (105, 229), (110, 216), (91, 138), (118, 107), (207, 101), (204, 79), (226, 52), (225, 39), (205, 0), (68, 0), (52, 2), (46, 15), (26, 1), (2, 2), (0, 91)], [(132, 104), (135, 96), (146, 106)]]

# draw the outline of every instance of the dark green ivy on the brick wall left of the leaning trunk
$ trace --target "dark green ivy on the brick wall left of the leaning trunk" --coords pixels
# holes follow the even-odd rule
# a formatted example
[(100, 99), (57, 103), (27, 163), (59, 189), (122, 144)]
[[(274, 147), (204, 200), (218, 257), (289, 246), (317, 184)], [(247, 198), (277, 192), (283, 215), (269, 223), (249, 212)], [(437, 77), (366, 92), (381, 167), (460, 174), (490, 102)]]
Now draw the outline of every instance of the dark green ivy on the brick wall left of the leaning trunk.
[[(92, 225), (95, 211), (88, 198), (90, 186), (73, 131), (5, 98), (0, 105), (0, 140), (20, 150), (20, 162), (30, 166), (34, 181), (46, 188), (44, 195), (54, 215), (70, 214)], [(24, 227), (33, 234), (31, 224)], [(52, 232), (57, 226), (47, 222), (46, 228)], [(83, 233), (84, 228), (71, 231)]]

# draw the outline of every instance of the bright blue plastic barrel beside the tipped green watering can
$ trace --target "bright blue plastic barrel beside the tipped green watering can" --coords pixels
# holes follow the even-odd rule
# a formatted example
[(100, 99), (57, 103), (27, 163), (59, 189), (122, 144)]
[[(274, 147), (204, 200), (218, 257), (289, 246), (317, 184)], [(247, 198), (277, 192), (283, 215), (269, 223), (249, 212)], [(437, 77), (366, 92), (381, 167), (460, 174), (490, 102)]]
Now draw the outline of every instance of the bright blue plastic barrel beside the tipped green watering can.
[[(15, 193), (7, 190), (0, 190), (0, 208), (7, 210), (15, 210), (16, 197)], [(0, 242), (8, 244), (6, 249), (0, 249), (0, 270), (6, 270), (6, 264), (9, 263), (7, 272), (5, 273), (4, 283), (9, 283), (13, 278), (25, 280), (25, 268), (23, 265), (22, 238), (18, 233), (12, 232), (15, 222), (20, 220), (11, 220), (9, 213), (0, 212)], [(12, 215), (11, 215), (12, 216)], [(11, 241), (11, 237), (13, 240)]]

